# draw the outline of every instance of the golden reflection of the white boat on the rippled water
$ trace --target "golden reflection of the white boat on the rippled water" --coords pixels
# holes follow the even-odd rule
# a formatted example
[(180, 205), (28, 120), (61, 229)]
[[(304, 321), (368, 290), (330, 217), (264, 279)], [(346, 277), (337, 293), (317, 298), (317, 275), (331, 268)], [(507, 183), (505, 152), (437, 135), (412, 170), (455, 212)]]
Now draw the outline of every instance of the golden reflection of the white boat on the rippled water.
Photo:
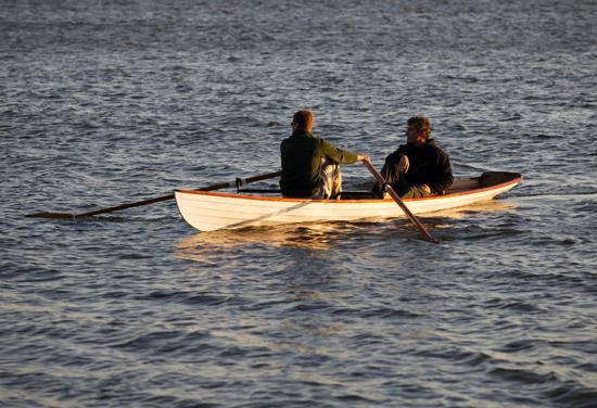
[[(421, 216), (423, 224), (433, 229), (449, 229), (452, 219), (465, 219), (473, 213), (495, 213), (515, 209), (516, 206), (504, 201), (487, 201), (474, 205), (446, 209)], [(427, 220), (427, 222), (425, 222)], [(183, 259), (207, 260), (212, 258), (214, 247), (231, 248), (249, 245), (271, 247), (301, 247), (326, 251), (339, 241), (347, 241), (363, 233), (373, 233), (371, 226), (379, 232), (379, 227), (396, 224), (406, 227), (406, 219), (368, 218), (359, 221), (292, 224), (280, 226), (247, 227), (234, 230), (198, 232), (176, 245), (176, 255)], [(395, 229), (391, 230), (392, 233)]]

